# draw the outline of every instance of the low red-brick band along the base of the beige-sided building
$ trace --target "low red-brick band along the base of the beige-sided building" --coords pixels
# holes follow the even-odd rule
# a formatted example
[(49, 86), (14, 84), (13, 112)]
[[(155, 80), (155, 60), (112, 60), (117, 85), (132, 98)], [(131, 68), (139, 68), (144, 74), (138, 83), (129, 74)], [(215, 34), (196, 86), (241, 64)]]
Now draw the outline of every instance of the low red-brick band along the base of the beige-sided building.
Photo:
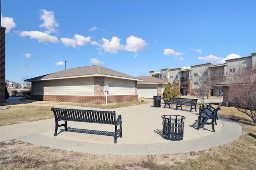
[[(75, 102), (89, 104), (106, 104), (106, 96), (52, 96), (52, 95), (31, 95), (31, 100), (53, 101), (53, 102)], [(138, 94), (108, 96), (108, 103), (138, 101)]]

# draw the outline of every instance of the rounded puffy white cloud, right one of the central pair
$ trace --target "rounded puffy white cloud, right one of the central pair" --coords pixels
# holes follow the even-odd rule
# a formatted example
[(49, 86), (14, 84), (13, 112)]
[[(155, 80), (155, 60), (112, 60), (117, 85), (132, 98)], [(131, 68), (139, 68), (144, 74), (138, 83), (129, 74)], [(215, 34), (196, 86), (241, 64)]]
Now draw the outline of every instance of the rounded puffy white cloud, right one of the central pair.
[(127, 51), (144, 51), (146, 50), (147, 43), (142, 38), (130, 36), (126, 39), (126, 45), (125, 48)]

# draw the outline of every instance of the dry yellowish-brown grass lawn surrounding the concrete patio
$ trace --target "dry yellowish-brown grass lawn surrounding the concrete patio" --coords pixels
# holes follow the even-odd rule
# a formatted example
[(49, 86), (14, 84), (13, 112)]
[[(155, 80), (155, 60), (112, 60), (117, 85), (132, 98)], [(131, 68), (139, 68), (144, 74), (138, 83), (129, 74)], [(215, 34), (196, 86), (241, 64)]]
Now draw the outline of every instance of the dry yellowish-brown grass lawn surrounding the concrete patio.
[[(135, 104), (142, 104), (142, 102), (112, 104), (110, 107), (116, 108)], [(80, 106), (80, 104), (74, 105)], [(24, 104), (9, 106), (11, 106), (10, 109), (0, 110), (1, 126), (54, 118), (50, 107)], [(106, 108), (104, 105), (97, 107)], [(213, 107), (216, 108), (217, 105), (213, 105)], [(236, 121), (243, 129), (242, 135), (230, 143), (199, 152), (133, 156), (84, 154), (11, 140), (0, 143), (0, 168), (8, 170), (255, 170), (256, 126), (252, 124), (247, 115), (232, 107), (222, 106), (218, 115)], [(12, 117), (13, 120), (10, 121), (9, 117)]]

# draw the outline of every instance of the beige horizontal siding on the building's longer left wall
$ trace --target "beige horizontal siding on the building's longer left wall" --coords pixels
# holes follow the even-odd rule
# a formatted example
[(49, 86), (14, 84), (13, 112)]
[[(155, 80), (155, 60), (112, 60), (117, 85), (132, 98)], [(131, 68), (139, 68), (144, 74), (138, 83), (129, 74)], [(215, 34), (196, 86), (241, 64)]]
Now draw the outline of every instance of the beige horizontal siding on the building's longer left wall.
[(92, 77), (34, 82), (34, 94), (57, 96), (93, 96)]

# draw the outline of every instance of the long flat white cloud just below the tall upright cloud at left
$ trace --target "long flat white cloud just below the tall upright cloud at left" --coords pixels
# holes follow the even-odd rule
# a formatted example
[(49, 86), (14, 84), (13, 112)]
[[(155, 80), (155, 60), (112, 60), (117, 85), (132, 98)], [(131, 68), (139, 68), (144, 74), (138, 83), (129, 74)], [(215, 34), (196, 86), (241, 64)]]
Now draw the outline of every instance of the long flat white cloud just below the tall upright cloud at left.
[(43, 33), (40, 31), (22, 31), (19, 33), (21, 37), (29, 36), (31, 39), (38, 39), (38, 42), (50, 42), (58, 43), (58, 38), (56, 36), (51, 36), (48, 33)]

